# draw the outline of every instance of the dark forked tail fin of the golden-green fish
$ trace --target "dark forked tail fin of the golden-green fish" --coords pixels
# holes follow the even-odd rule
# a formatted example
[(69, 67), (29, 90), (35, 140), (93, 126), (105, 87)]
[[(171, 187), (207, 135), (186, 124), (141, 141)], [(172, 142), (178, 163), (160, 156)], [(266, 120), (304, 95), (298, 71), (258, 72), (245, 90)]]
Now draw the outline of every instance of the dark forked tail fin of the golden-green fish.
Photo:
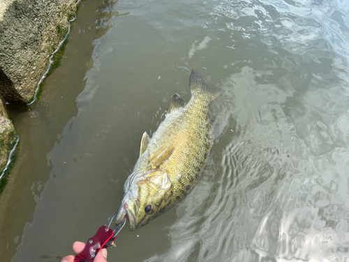
[(206, 82), (202, 75), (196, 70), (191, 71), (189, 86), (191, 87), (192, 94), (207, 94), (211, 100), (221, 96), (221, 94), (224, 92), (219, 87), (215, 87), (214, 85), (210, 85), (208, 82)]

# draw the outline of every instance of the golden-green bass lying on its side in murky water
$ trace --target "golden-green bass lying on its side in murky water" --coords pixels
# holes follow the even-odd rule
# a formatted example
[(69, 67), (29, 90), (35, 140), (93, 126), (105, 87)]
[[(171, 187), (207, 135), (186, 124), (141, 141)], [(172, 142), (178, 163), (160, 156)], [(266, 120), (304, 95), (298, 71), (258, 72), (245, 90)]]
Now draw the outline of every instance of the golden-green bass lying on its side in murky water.
[(134, 231), (183, 199), (198, 182), (214, 145), (209, 103), (223, 94), (198, 71), (189, 77), (191, 99), (174, 94), (165, 119), (150, 138), (143, 133), (140, 157), (124, 184), (115, 223), (128, 218)]

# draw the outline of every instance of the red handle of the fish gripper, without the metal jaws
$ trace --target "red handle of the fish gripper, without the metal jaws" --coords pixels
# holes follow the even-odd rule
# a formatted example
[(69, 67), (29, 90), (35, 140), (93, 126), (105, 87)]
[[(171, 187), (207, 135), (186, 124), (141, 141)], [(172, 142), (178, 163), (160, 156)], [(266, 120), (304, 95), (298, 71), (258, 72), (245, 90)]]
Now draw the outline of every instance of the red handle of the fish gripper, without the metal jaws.
[[(74, 262), (92, 262), (99, 250), (109, 247), (109, 242), (114, 241), (112, 238), (114, 232), (107, 226), (98, 228), (96, 235), (87, 240), (84, 250), (75, 256)], [(108, 242), (109, 241), (109, 242)], [(107, 243), (108, 242), (108, 243)]]

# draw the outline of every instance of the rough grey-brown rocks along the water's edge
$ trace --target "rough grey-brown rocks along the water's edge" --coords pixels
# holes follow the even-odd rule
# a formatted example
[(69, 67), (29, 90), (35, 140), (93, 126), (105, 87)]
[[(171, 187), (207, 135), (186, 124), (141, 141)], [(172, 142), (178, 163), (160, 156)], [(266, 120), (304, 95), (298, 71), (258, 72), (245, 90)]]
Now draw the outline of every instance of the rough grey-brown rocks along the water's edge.
[[(76, 0), (0, 1), (0, 175), (17, 141), (6, 104), (34, 100), (50, 55), (68, 32)], [(0, 192), (1, 192), (0, 180)]]

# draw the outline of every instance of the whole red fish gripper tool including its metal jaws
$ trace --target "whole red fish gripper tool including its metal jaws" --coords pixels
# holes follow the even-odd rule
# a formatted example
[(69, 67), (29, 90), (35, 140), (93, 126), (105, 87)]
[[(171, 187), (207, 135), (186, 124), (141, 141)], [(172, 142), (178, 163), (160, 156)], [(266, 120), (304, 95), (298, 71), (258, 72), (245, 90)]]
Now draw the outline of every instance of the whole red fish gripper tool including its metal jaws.
[(123, 220), (114, 230), (110, 229), (112, 219), (116, 216), (117, 213), (112, 214), (112, 216), (107, 219), (105, 225), (98, 228), (97, 233), (87, 240), (84, 250), (75, 256), (74, 262), (92, 262), (101, 249), (115, 247), (114, 240), (117, 238), (117, 233), (119, 233), (126, 222), (126, 220)]

